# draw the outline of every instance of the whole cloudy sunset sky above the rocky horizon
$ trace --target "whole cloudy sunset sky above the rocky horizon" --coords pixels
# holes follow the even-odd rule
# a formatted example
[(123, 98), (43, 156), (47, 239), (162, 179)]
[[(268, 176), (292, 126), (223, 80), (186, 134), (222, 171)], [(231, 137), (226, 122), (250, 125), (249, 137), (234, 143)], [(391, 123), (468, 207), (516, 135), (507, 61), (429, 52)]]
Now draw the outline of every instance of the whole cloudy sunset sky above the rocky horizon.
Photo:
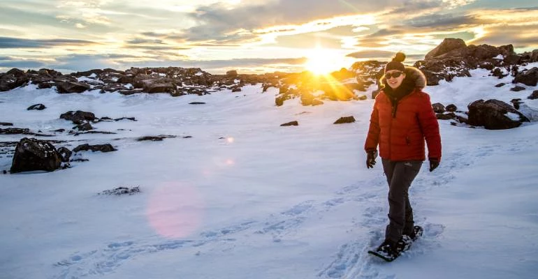
[[(538, 49), (523, 0), (0, 0), (0, 72), (145, 66), (210, 73), (328, 70), (443, 38)], [(321, 60), (321, 61), (320, 61)]]

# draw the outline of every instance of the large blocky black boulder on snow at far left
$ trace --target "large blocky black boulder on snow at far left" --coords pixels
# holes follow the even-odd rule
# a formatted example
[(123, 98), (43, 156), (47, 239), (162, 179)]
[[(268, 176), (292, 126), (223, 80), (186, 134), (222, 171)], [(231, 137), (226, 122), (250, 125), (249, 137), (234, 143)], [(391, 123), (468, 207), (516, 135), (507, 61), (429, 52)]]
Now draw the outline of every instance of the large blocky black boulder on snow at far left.
[(24, 137), (15, 147), (10, 172), (45, 170), (52, 172), (61, 165), (61, 155), (50, 142)]

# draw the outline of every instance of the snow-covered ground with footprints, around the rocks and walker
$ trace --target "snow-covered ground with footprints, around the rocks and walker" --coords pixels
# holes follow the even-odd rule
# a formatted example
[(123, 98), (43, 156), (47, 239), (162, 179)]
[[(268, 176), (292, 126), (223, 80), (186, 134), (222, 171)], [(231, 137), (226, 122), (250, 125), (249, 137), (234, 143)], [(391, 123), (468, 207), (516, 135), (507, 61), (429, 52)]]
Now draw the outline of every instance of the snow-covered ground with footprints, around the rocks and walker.
[[(513, 92), (512, 77), (472, 75), (425, 91), (460, 110), (480, 98), (538, 107), (526, 99), (536, 86)], [(116, 152), (82, 152), (89, 161), (55, 172), (0, 174), (0, 278), (536, 278), (536, 123), (485, 130), (439, 121), (442, 163), (434, 172), (424, 163), (410, 189), (425, 233), (386, 263), (366, 253), (381, 242), (388, 212), (381, 164), (365, 167), (373, 100), (275, 107), (276, 93), (0, 93), (0, 121), (34, 132), (71, 129), (59, 119), (69, 110), (138, 120), (93, 124), (115, 135), (42, 138)], [(47, 109), (26, 110), (37, 103)], [(333, 124), (351, 115), (355, 123)], [(145, 135), (178, 137), (136, 141)], [(10, 165), (1, 156), (0, 170)], [(141, 192), (98, 195), (119, 186)]]

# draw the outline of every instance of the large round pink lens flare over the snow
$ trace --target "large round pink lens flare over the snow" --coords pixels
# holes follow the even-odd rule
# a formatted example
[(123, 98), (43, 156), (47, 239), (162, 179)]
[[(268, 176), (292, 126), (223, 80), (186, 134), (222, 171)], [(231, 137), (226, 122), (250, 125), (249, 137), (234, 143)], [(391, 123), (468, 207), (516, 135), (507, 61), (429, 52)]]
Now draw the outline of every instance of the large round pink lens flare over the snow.
[(184, 183), (163, 183), (150, 195), (146, 216), (153, 229), (172, 239), (191, 236), (200, 227), (203, 201), (198, 190)]

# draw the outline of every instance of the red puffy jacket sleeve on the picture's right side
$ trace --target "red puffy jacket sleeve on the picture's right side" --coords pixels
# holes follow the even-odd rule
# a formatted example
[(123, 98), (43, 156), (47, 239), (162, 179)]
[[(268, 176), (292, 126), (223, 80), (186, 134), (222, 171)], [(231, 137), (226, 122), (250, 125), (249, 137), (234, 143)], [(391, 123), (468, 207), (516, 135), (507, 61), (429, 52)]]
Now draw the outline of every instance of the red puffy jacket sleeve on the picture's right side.
[(441, 160), (441, 134), (435, 112), (433, 112), (430, 96), (425, 93), (419, 109), (419, 123), (428, 145), (428, 158)]

